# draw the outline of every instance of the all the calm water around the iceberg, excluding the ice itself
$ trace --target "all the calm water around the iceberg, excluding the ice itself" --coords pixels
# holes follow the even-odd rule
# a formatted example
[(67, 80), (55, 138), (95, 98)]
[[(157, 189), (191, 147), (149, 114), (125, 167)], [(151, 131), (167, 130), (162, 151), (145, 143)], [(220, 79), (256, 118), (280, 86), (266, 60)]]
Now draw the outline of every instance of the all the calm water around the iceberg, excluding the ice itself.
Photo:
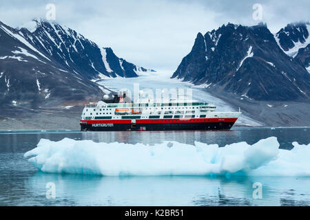
[[(94, 142), (194, 144), (247, 142), (278, 137), (288, 151), (292, 142), (310, 143), (310, 128), (235, 129), (234, 131), (87, 132), (0, 131), (0, 206), (309, 206), (309, 177), (101, 177), (38, 172), (23, 153), (41, 138), (64, 137)], [(56, 198), (45, 197), (46, 184), (56, 186)], [(255, 182), (262, 199), (254, 199)]]

